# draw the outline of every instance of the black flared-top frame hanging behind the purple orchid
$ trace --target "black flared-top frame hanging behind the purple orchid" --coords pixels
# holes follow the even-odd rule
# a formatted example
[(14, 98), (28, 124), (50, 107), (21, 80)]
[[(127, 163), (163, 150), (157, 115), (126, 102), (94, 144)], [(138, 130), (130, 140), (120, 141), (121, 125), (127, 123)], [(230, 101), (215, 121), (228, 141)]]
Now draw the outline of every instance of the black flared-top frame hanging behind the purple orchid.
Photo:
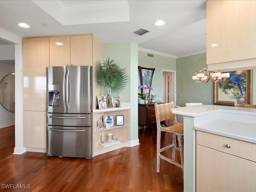
[[(155, 71), (155, 68), (145, 68), (138, 66), (139, 73), (140, 73), (140, 82), (141, 85), (144, 86), (150, 86), (152, 83), (153, 74)], [(141, 94), (143, 93), (143, 89), (141, 89)], [(146, 89), (146, 93), (148, 96), (150, 96), (150, 89)]]

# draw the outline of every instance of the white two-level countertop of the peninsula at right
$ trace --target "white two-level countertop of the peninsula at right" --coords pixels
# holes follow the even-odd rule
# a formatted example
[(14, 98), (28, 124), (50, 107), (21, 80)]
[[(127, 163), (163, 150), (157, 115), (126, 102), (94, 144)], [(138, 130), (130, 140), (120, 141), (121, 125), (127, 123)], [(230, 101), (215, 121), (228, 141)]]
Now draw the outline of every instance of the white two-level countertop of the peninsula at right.
[(198, 105), (174, 108), (172, 112), (198, 119), (194, 130), (256, 144), (256, 109)]

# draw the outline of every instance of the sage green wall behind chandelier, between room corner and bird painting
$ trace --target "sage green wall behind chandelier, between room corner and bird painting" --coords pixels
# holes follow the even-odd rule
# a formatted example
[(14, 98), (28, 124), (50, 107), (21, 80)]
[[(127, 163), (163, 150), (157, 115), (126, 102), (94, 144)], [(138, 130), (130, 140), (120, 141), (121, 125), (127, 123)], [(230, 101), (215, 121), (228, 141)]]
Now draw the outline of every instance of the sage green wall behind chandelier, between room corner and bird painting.
[[(207, 68), (206, 53), (177, 59), (177, 105), (200, 102), (204, 105), (213, 104), (214, 83), (197, 83), (192, 80), (196, 70)], [(182, 94), (182, 97), (180, 95)]]

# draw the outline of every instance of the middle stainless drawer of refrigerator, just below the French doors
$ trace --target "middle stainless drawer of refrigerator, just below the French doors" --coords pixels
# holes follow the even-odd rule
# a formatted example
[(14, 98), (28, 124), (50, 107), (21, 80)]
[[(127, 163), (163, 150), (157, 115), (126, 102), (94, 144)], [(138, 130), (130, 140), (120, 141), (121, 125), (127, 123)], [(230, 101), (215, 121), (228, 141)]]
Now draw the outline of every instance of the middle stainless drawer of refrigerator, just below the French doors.
[(92, 114), (47, 113), (47, 125), (54, 126), (91, 126)]

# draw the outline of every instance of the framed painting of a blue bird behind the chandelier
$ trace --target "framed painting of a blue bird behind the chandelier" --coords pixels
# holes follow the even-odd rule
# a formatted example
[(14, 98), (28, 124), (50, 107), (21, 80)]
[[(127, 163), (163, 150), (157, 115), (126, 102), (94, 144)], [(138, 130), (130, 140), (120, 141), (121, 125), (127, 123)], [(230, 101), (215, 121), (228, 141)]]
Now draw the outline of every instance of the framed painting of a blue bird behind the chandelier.
[(214, 83), (214, 104), (252, 104), (252, 70), (230, 71), (227, 80)]

